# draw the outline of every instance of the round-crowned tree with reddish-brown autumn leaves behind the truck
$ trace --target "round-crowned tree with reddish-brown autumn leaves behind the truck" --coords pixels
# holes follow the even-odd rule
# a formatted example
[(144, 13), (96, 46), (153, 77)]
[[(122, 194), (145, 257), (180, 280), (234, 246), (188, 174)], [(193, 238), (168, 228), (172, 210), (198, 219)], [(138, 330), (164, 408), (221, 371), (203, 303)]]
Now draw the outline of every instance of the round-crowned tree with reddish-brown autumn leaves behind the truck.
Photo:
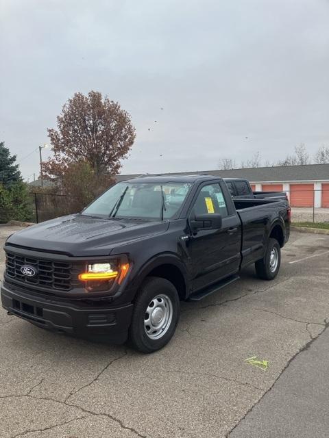
[(42, 174), (60, 186), (68, 180), (67, 172), (87, 165), (102, 186), (98, 191), (103, 190), (119, 172), (136, 137), (130, 114), (95, 91), (88, 96), (75, 93), (62, 108), (57, 125), (58, 129), (48, 129), (53, 157), (42, 163)]

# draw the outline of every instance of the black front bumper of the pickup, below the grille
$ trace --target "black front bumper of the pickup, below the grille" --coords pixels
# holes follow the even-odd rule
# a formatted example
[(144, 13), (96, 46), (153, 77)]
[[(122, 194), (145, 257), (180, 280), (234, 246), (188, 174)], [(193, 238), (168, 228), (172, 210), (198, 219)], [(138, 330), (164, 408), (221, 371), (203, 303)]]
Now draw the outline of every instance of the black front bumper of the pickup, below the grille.
[(13, 315), (44, 329), (78, 337), (99, 337), (123, 344), (132, 318), (132, 304), (108, 307), (101, 302), (56, 301), (2, 283), (2, 306)]

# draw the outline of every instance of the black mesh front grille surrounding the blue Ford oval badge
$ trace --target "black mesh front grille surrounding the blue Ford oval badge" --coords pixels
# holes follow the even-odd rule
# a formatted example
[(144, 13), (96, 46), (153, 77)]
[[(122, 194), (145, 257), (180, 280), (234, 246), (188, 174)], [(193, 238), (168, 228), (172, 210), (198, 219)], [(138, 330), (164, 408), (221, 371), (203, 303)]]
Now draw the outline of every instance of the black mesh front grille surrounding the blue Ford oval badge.
[[(21, 267), (24, 265), (32, 266), (37, 272), (36, 276), (23, 275)], [(25, 283), (25, 285), (70, 290), (73, 283), (76, 283), (72, 263), (7, 253), (5, 266), (5, 273), (10, 279)]]

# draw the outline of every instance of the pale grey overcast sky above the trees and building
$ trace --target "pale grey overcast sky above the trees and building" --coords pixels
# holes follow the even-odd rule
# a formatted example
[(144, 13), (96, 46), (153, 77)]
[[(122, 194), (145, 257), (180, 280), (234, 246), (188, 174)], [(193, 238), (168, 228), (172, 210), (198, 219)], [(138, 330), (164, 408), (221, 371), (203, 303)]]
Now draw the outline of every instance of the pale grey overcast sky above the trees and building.
[(329, 145), (328, 0), (0, 5), (0, 141), (25, 178), (77, 91), (130, 112), (137, 137), (121, 173), (213, 170), (221, 157), (272, 161), (301, 142), (310, 153)]

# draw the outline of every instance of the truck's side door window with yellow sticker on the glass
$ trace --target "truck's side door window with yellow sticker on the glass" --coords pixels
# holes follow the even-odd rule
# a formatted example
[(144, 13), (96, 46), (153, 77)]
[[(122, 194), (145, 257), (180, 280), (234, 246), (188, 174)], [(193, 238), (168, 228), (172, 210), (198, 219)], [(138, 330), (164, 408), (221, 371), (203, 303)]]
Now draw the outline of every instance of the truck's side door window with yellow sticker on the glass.
[(213, 213), (221, 214), (223, 218), (228, 216), (225, 198), (218, 183), (204, 185), (197, 195), (193, 211), (196, 216)]

